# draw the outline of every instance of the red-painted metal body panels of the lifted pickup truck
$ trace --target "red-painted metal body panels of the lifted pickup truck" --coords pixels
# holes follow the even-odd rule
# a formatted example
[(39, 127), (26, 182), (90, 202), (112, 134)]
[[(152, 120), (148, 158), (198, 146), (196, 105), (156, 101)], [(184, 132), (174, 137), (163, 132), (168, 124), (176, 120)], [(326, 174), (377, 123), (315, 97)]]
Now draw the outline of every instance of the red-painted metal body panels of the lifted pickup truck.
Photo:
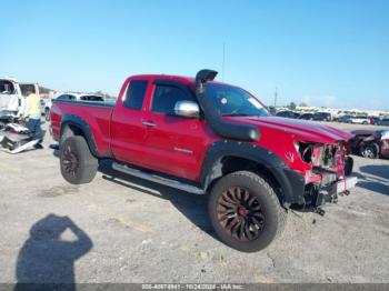
[[(136, 79), (149, 81), (141, 110), (128, 109), (122, 103), (129, 82)], [(163, 74), (137, 76), (124, 81), (113, 109), (54, 103), (51, 110), (54, 139), (59, 140), (61, 117), (64, 113), (71, 113), (81, 117), (89, 124), (101, 155), (199, 181), (207, 150), (220, 138), (212, 132), (205, 120), (167, 117), (151, 112), (154, 79), (174, 80), (194, 88), (192, 78)], [(293, 142), (340, 144), (352, 138), (352, 134), (328, 126), (286, 118), (269, 116), (226, 119), (258, 127), (261, 138), (256, 144), (276, 153), (291, 169), (305, 175), (307, 183), (319, 181), (321, 178), (311, 173), (312, 165), (301, 160)], [(144, 127), (143, 121), (153, 122), (156, 127)], [(342, 167), (343, 164), (340, 163), (336, 170), (341, 172)]]

